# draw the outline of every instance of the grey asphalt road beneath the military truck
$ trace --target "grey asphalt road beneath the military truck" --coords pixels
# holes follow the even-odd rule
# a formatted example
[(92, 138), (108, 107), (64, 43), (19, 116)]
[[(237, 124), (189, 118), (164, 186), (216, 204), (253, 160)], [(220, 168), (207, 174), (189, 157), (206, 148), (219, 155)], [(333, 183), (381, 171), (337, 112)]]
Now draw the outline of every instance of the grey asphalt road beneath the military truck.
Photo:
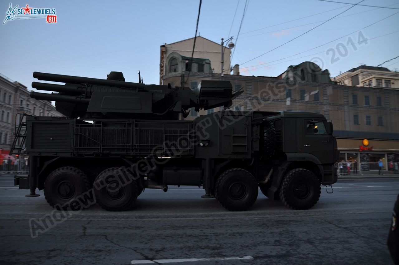
[(93, 206), (36, 238), (29, 220), (53, 209), (42, 191), (26, 198), (12, 185), (0, 176), (2, 264), (393, 264), (386, 241), (399, 178), (340, 179), (305, 211), (260, 192), (250, 211), (228, 212), (196, 187), (145, 190), (134, 210)]

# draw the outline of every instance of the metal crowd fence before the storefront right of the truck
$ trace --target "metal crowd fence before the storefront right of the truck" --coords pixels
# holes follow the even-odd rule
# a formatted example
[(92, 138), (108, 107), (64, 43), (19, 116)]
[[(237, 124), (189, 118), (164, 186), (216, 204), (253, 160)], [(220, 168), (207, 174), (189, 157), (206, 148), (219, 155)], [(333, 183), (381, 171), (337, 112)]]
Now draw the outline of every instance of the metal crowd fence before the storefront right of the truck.
[(382, 164), (382, 167), (380, 167), (378, 162), (339, 162), (338, 176), (364, 174), (399, 174), (399, 164), (397, 162), (393, 162), (391, 164), (384, 161)]

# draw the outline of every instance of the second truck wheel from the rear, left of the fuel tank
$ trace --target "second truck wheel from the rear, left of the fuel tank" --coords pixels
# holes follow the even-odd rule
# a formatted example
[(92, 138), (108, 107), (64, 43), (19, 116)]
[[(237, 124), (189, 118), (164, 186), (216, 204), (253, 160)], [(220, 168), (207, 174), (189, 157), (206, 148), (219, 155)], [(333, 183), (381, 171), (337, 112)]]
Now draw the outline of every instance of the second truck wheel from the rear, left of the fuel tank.
[(126, 183), (115, 174), (117, 169), (107, 168), (97, 176), (93, 184), (97, 204), (107, 211), (129, 210), (138, 196), (136, 180)]

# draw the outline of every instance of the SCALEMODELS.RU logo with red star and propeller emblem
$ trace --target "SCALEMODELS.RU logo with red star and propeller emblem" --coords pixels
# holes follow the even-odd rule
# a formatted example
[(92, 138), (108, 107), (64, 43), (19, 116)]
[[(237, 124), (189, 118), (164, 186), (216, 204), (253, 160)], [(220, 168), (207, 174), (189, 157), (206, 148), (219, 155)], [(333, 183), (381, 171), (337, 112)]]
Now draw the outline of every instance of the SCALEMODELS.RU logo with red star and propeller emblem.
[(6, 19), (3, 24), (6, 24), (8, 20), (21, 18), (46, 18), (47, 23), (57, 23), (55, 8), (33, 8), (29, 7), (28, 4), (26, 4), (25, 8), (17, 8), (18, 5), (13, 8), (12, 3), (10, 3), (10, 8), (6, 12)]

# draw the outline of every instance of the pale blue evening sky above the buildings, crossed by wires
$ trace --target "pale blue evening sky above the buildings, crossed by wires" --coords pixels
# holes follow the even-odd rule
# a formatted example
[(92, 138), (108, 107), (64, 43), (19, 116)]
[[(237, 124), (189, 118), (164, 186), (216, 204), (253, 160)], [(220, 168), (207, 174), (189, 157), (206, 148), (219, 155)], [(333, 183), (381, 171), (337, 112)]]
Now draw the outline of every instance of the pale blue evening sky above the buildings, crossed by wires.
[[(399, 55), (398, 0), (359, 3), (367, 6), (353, 5), (360, 0), (336, 1), (352, 5), (320, 0), (202, 0), (198, 35), (217, 43), (233, 36), (231, 64), (240, 65), (241, 75), (251, 76), (275, 77), (290, 65), (313, 61), (336, 77)], [(195, 36), (199, 2), (11, 2), (13, 8), (54, 8), (57, 23), (17, 19), (24, 16), (17, 14), (0, 24), (0, 73), (29, 90), (37, 81), (34, 71), (103, 79), (110, 71), (120, 71), (126, 81), (138, 82), (140, 70), (144, 83), (158, 84), (160, 45)], [(2, 22), (9, 7), (10, 2), (0, 1)], [(399, 57), (382, 66), (399, 70)]]

